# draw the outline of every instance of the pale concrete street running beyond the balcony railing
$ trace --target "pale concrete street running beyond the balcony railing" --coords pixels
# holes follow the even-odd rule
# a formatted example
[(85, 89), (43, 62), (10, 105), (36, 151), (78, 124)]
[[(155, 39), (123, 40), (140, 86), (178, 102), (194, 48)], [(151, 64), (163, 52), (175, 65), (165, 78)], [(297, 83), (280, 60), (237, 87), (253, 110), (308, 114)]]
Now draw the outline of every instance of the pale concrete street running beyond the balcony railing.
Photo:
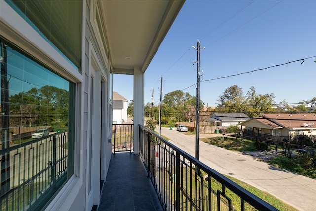
[[(156, 127), (156, 131), (159, 128)], [(195, 157), (195, 135), (161, 128), (170, 143)], [(221, 134), (220, 134), (221, 135)], [(204, 135), (200, 135), (200, 138)], [(229, 175), (266, 191), (300, 211), (314, 211), (316, 180), (276, 168), (251, 155), (226, 150), (200, 141), (200, 161), (221, 174)]]

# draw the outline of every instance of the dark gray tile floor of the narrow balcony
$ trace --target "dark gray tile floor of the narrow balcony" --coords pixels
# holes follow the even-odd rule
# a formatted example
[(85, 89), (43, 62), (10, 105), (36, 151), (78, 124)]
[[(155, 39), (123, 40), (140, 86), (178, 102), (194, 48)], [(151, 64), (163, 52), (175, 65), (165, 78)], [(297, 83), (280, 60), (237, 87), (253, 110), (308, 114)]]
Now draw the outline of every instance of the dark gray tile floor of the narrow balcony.
[(162, 211), (138, 155), (112, 154), (98, 211)]

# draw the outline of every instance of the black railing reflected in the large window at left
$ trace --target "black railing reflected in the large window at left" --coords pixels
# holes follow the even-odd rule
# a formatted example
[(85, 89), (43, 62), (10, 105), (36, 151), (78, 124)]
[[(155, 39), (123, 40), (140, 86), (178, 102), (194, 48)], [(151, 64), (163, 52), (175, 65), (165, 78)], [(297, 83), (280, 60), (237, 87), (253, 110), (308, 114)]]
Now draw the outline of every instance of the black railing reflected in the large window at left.
[(63, 131), (0, 150), (1, 211), (42, 207), (67, 179), (67, 148)]

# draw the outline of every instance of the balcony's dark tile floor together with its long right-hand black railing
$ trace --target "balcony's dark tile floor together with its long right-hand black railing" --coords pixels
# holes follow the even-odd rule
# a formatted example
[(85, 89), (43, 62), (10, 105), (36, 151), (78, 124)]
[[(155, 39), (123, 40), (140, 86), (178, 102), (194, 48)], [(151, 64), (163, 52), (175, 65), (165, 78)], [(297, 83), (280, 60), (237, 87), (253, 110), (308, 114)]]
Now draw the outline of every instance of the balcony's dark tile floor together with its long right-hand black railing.
[(139, 155), (112, 155), (100, 211), (277, 210), (146, 127), (139, 127)]

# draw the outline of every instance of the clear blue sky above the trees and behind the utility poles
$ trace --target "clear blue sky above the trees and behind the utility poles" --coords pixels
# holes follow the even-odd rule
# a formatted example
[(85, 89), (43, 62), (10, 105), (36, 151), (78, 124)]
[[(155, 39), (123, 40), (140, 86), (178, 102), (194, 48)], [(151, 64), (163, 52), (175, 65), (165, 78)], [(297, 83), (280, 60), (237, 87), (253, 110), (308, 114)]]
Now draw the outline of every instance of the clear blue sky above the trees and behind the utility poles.
[[(161, 76), (163, 96), (175, 90), (196, 95), (197, 51), (191, 46), (197, 47), (197, 40), (205, 47), (200, 99), (208, 106), (216, 106), (232, 85), (244, 94), (251, 86), (257, 94), (274, 93), (276, 104), (311, 100), (316, 97), (315, 8), (316, 0), (187, 0), (145, 72), (145, 104), (152, 102), (154, 89), (158, 105)], [(292, 62), (299, 59), (303, 64)], [(271, 66), (276, 67), (254, 71)], [(240, 73), (245, 74), (227, 77)], [(227, 78), (216, 79), (221, 77)], [(133, 90), (119, 87), (118, 80), (132, 86), (132, 76), (114, 75), (113, 84), (113, 91), (132, 100)]]

